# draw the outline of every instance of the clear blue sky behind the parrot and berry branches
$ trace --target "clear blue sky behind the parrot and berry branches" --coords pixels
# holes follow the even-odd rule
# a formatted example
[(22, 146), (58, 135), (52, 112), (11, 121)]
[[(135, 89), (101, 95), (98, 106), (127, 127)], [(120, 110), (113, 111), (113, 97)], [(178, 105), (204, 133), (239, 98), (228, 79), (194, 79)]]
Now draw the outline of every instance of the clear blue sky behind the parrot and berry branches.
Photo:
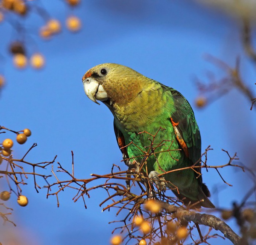
[[(62, 23), (69, 14), (59, 1), (48, 2), (45, 7)], [(113, 163), (122, 166), (113, 116), (104, 104), (98, 106), (86, 97), (81, 81), (94, 65), (111, 62), (131, 67), (177, 89), (187, 98), (200, 127), (202, 149), (208, 145), (214, 148), (209, 153), (209, 165), (227, 163), (228, 158), (221, 149), (230, 154), (238, 152), (241, 162), (247, 166), (255, 163), (251, 145), (256, 138), (256, 117), (243, 95), (233, 89), (205, 109), (198, 110), (194, 105), (198, 91), (193, 78), (207, 80), (207, 70), (214, 71), (218, 78), (223, 75), (203, 59), (204, 54), (212, 54), (231, 66), (241, 56), (242, 77), (256, 94), (255, 68), (242, 52), (235, 21), (185, 0), (82, 1), (73, 13), (81, 18), (82, 31), (72, 35), (63, 30), (46, 42), (33, 34), (43, 24), (40, 18), (32, 15), (29, 20), (33, 22), (24, 21), (31, 33), (26, 42), (28, 52), (38, 50), (46, 57), (42, 71), (32, 68), (19, 71), (12, 66), (5, 50), (15, 34), (8, 24), (0, 25), (0, 32), (6, 33), (0, 40), (1, 52), (6, 56), (1, 66), (6, 86), (0, 95), (0, 124), (13, 130), (32, 131), (26, 144), (14, 145), (14, 157), (23, 156), (37, 142), (38, 147), (27, 160), (52, 160), (57, 154), (57, 161), (71, 171), (73, 150), (75, 174), (79, 178), (89, 178), (91, 173), (109, 173)], [(5, 137), (14, 138), (14, 135)], [(49, 167), (44, 173), (49, 174), (50, 170)], [(218, 193), (219, 207), (228, 208), (233, 201), (241, 200), (252, 181), (238, 169), (227, 167), (220, 171), (233, 187), (224, 185), (213, 170), (204, 171), (203, 179), (210, 190), (223, 187)], [(3, 182), (1, 179), (1, 186)], [(90, 199), (85, 198), (88, 207), (85, 210), (82, 200), (73, 203), (75, 194), (66, 191), (60, 194), (57, 208), (54, 197), (46, 200), (45, 189), (37, 194), (32, 179), (28, 183), (23, 189), (23, 195), (29, 198), (27, 207), (19, 207), (14, 195), (8, 202), (14, 208), (12, 217), (18, 228), (6, 224), (3, 229), (6, 234), (15, 238), (20, 233), (26, 241), (24, 244), (108, 243), (114, 228), (108, 222), (117, 218), (116, 210), (101, 212), (98, 204), (107, 197), (105, 192), (94, 191)], [(217, 194), (211, 200), (216, 204)], [(232, 225), (235, 223), (231, 222)], [(33, 239), (26, 240), (26, 236)], [(217, 243), (218, 240), (212, 240), (212, 244)], [(230, 242), (226, 240), (222, 244)]]

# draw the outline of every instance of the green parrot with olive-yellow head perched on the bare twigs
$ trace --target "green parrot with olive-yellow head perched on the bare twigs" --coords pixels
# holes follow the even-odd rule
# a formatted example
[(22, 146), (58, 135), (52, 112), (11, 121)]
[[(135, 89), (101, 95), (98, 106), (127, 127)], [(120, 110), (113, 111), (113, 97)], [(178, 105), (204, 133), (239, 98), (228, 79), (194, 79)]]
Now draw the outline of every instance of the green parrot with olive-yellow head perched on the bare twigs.
[[(189, 168), (201, 164), (201, 136), (183, 95), (129, 67), (111, 63), (91, 68), (82, 82), (88, 98), (97, 104), (102, 101), (113, 113), (124, 159), (141, 163), (142, 153), (150, 145), (157, 146), (143, 169), (154, 179), (161, 174), (186, 206), (215, 207), (207, 198), (210, 192), (202, 182), (201, 168)], [(180, 168), (186, 169), (168, 172)]]

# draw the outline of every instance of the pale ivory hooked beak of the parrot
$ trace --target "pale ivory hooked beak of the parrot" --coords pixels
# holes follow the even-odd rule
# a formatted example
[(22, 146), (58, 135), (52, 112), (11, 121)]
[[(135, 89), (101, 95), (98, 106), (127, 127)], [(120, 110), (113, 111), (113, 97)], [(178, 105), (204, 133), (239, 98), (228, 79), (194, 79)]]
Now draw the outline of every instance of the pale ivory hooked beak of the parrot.
[(92, 77), (83, 80), (84, 92), (93, 102), (99, 104), (96, 100), (104, 101), (108, 99), (107, 92), (103, 86)]

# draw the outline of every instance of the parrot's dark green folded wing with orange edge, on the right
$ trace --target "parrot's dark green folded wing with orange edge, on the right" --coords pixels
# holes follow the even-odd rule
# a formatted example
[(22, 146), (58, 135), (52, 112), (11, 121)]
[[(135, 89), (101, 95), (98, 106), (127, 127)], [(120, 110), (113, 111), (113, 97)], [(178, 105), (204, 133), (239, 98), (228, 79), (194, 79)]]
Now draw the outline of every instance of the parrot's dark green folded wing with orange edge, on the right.
[[(174, 132), (181, 149), (185, 152), (185, 155), (191, 161), (191, 165), (201, 164), (201, 136), (200, 131), (195, 120), (194, 112), (186, 100), (178, 91), (173, 88), (162, 85), (163, 91), (171, 92), (175, 112), (172, 113), (171, 123), (174, 126)], [(210, 192), (206, 185), (202, 182), (201, 168), (195, 169), (198, 174), (195, 173), (198, 184), (201, 187), (206, 197), (210, 197)]]

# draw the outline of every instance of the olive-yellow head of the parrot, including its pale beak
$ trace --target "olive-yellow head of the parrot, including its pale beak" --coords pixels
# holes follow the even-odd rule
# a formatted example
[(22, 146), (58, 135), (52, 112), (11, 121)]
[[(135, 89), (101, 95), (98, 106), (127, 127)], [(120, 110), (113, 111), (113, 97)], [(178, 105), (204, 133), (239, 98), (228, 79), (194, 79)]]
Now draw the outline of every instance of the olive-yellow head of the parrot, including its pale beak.
[[(143, 79), (144, 78), (144, 79)], [(82, 82), (88, 98), (107, 106), (127, 104), (142, 91), (145, 77), (129, 67), (105, 63), (91, 68), (84, 74)]]

